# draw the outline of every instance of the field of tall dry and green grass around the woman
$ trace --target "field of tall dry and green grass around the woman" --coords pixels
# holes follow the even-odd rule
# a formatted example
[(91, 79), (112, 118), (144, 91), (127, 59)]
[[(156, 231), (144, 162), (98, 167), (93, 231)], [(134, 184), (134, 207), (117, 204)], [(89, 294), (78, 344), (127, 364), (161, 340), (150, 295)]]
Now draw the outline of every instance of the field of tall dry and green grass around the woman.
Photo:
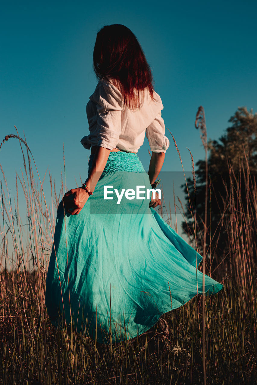
[[(85, 334), (59, 330), (49, 321), (44, 290), (64, 184), (57, 194), (50, 176), (52, 196), (47, 205), (29, 149), (20, 144), (25, 148), (24, 172), (17, 175), (15, 200), (8, 195), (2, 170), (0, 384), (257, 383), (255, 180), (245, 176), (247, 212), (233, 209), (228, 191), (231, 220), (224, 231), (230, 258), (221, 256), (215, 273), (207, 258), (200, 264), (201, 271), (224, 284), (224, 290), (205, 296), (204, 301), (196, 296), (164, 315), (171, 330), (169, 349), (162, 348), (158, 335), (150, 334), (117, 345), (99, 345)], [(27, 218), (20, 218), (18, 186), (27, 204)]]

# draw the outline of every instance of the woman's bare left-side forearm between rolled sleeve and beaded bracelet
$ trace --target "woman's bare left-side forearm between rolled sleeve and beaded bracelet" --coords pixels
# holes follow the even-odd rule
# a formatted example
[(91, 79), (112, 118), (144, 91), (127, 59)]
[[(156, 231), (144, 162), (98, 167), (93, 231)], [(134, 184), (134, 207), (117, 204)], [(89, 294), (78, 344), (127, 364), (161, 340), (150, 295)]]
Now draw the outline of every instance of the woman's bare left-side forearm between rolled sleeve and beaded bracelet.
[(98, 146), (95, 152), (91, 170), (88, 174), (86, 186), (93, 192), (105, 168), (111, 150)]

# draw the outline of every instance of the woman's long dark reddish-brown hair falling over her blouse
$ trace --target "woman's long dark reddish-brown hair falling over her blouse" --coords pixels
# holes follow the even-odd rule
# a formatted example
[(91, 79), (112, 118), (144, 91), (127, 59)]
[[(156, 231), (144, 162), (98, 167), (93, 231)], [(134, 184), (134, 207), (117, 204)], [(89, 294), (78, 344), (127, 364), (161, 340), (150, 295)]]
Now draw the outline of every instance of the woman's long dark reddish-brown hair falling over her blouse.
[(96, 35), (93, 52), (98, 79), (112, 79), (123, 95), (124, 103), (140, 108), (140, 91), (147, 88), (154, 100), (152, 72), (134, 33), (125, 25), (105, 25)]

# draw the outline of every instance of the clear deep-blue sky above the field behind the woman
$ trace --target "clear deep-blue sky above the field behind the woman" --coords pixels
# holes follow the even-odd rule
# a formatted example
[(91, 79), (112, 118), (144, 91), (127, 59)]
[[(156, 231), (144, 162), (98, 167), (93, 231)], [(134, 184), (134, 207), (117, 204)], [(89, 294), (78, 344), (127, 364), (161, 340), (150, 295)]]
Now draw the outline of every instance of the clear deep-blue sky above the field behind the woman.
[[(83, 181), (90, 151), (86, 104), (95, 90), (93, 47), (103, 25), (135, 33), (162, 98), (162, 117), (181, 152), (184, 169), (205, 157), (194, 119), (205, 108), (208, 138), (218, 139), (238, 106), (257, 112), (256, 0), (228, 1), (8, 1), (0, 12), (0, 139), (26, 136), (41, 177), (48, 167), (57, 184), (66, 159), (66, 184)], [(170, 147), (164, 171), (181, 171)], [(145, 138), (138, 155), (149, 166)], [(22, 167), (19, 144), (2, 146), (0, 163), (14, 191)]]

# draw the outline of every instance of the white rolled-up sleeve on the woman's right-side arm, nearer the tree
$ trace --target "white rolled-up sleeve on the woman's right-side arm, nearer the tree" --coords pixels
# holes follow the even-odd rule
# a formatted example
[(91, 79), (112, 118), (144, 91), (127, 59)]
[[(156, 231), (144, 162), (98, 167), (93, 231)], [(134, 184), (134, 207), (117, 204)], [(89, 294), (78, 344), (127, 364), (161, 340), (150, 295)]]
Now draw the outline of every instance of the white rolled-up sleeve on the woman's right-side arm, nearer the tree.
[(169, 139), (165, 136), (165, 125), (161, 111), (147, 127), (145, 133), (152, 152), (166, 152), (169, 147)]

